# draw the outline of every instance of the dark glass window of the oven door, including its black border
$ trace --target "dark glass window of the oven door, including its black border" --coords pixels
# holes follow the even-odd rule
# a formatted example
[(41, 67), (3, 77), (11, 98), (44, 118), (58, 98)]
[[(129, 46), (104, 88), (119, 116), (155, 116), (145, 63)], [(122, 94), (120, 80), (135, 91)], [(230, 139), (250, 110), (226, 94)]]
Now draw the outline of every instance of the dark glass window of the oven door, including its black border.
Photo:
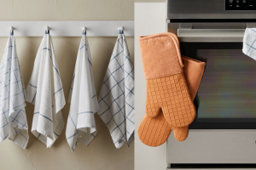
[(183, 55), (207, 63), (189, 128), (256, 128), (256, 60), (241, 48), (242, 42), (181, 42)]

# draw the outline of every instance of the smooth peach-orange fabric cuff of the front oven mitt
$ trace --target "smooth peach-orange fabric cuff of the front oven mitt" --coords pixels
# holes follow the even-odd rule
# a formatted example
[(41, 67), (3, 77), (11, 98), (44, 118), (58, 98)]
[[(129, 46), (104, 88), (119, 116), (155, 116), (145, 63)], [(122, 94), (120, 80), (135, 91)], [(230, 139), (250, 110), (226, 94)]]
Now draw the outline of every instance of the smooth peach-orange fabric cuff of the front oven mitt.
[(138, 38), (145, 78), (167, 77), (183, 72), (179, 43), (172, 33)]

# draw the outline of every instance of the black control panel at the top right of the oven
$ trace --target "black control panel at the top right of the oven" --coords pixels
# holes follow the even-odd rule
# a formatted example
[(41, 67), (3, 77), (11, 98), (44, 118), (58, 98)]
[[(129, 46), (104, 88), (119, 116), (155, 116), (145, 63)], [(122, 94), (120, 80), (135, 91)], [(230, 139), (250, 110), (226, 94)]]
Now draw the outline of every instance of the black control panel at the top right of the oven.
[(225, 0), (226, 10), (256, 10), (256, 0)]

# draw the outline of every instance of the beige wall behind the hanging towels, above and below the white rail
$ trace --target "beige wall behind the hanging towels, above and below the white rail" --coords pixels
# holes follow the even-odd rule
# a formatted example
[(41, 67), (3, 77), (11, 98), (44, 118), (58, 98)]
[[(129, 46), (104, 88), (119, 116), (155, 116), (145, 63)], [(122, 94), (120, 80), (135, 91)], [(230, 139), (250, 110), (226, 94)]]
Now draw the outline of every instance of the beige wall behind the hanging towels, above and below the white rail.
[[(0, 0), (0, 20), (133, 20), (131, 0)], [(117, 30), (117, 36), (118, 36)], [(42, 37), (44, 32), (42, 32)], [(32, 75), (33, 62), (42, 37), (16, 37), (20, 67), (27, 86)], [(117, 37), (89, 37), (90, 52), (96, 83), (100, 93), (102, 80), (108, 67)], [(64, 93), (67, 101), (80, 37), (53, 37)], [(126, 37), (133, 59), (133, 37)], [(0, 37), (0, 59), (7, 37)], [(33, 105), (26, 105), (29, 129), (32, 127)], [(69, 104), (62, 115), (67, 123)], [(64, 129), (59, 139), (49, 149), (29, 133), (26, 150), (6, 139), (0, 143), (0, 169), (5, 170), (132, 170), (134, 169), (134, 144), (117, 150), (108, 128), (96, 115), (97, 135), (89, 146), (81, 142), (72, 152), (67, 144)]]

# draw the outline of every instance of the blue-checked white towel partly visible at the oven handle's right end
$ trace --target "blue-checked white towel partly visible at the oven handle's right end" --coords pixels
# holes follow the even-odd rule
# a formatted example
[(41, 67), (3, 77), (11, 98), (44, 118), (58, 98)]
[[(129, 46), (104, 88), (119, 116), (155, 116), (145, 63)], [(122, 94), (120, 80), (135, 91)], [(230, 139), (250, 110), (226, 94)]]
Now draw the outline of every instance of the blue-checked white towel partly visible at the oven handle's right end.
[(242, 52), (256, 60), (256, 28), (247, 28), (243, 37)]

